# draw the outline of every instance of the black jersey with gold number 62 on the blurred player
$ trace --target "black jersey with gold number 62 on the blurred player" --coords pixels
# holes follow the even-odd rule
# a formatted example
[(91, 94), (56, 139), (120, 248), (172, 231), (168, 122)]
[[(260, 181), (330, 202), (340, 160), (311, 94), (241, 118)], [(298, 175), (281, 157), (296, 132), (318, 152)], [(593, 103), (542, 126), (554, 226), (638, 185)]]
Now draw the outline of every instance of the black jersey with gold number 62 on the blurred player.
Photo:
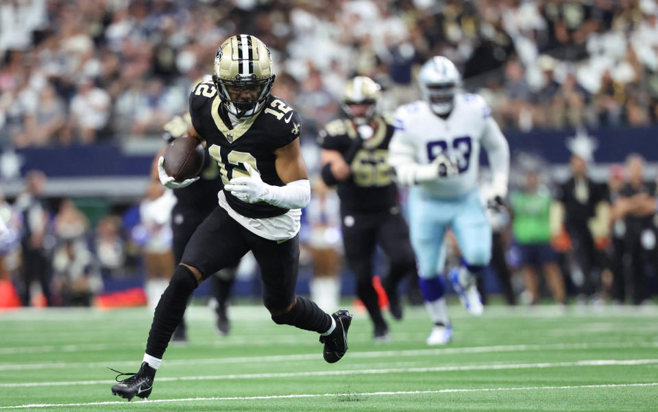
[[(338, 183), (341, 209), (347, 211), (382, 211), (398, 204), (398, 188), (393, 183), (393, 168), (388, 164), (393, 125), (387, 116), (377, 116), (374, 135), (363, 142), (350, 168), (352, 175)], [(339, 151), (343, 156), (360, 139), (351, 120), (327, 123), (319, 133), (323, 149)]]

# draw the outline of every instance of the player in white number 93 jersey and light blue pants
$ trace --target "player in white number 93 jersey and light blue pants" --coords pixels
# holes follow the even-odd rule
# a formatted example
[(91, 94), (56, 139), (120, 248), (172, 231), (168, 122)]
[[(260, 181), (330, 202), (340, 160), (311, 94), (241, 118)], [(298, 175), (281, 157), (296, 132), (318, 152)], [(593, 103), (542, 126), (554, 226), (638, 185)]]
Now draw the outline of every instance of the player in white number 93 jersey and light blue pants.
[(439, 276), (448, 227), (463, 257), (461, 266), (450, 273), (452, 286), (470, 313), (483, 311), (476, 276), (491, 257), (491, 227), (476, 186), (480, 145), (487, 150), (491, 166), (491, 207), (501, 205), (507, 194), (509, 146), (484, 99), (460, 92), (459, 72), (446, 57), (432, 57), (422, 66), (418, 80), (423, 99), (395, 112), (389, 162), (398, 182), (412, 186), (411, 243), (425, 307), (435, 323), (427, 343), (435, 345), (452, 339)]

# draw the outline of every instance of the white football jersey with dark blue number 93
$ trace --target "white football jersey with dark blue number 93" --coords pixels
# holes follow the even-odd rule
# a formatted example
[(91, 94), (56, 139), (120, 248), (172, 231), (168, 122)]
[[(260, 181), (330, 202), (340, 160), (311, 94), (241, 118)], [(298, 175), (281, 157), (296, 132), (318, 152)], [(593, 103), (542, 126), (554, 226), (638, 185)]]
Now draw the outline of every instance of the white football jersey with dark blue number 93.
[[(395, 112), (393, 125), (396, 131), (391, 145), (397, 141), (413, 147), (417, 164), (429, 164), (440, 153), (456, 159), (458, 175), (419, 183), (435, 198), (458, 198), (476, 188), (480, 146), (491, 151), (503, 144), (507, 149), (487, 103), (478, 94), (456, 94), (452, 113), (445, 120), (434, 114), (426, 101), (403, 105)], [(509, 164), (509, 155), (500, 160)]]

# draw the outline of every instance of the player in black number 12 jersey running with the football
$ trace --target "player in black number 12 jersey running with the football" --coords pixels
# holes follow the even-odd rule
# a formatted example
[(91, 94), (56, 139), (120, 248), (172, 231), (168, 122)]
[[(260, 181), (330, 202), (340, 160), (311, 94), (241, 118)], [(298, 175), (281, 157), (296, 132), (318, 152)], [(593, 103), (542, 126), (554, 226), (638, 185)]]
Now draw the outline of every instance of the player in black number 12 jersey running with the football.
[[(343, 309), (330, 316), (315, 302), (295, 296), (300, 216), (310, 200), (310, 184), (300, 153), (300, 118), (270, 94), (273, 81), (265, 44), (241, 34), (219, 47), (212, 82), (199, 83), (191, 93), (188, 133), (206, 140), (217, 160), (223, 182), (219, 207), (192, 235), (160, 298), (141, 368), (114, 385), (112, 394), (127, 399), (151, 394), (188, 297), (210, 274), (249, 250), (260, 266), (263, 300), (272, 320), (320, 333), (329, 363), (348, 350), (345, 335), (352, 315)], [(163, 183), (170, 179), (162, 176)]]

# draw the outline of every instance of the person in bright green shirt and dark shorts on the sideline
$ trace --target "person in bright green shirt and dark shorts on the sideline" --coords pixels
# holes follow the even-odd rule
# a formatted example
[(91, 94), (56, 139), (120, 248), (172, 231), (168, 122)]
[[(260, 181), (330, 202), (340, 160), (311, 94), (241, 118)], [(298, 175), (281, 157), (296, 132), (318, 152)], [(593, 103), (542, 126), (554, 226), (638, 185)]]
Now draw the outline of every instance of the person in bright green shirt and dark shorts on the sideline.
[[(560, 224), (551, 224), (553, 196), (539, 182), (537, 170), (528, 170), (522, 190), (513, 192), (509, 206), (513, 213), (512, 230), (519, 246), (520, 260), (526, 292), (530, 302), (539, 300), (539, 276), (541, 270), (555, 302), (565, 302), (564, 281), (557, 264), (557, 255), (550, 245), (551, 237), (559, 232)], [(553, 211), (553, 212), (552, 212)]]

